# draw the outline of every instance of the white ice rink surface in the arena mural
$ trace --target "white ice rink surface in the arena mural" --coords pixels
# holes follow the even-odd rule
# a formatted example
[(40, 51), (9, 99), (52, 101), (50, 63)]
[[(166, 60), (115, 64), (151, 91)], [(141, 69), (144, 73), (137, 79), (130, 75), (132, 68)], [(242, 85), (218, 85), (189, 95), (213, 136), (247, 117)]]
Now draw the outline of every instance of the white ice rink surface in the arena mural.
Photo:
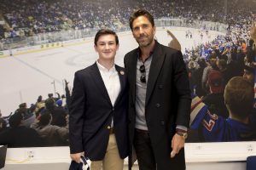
[[(198, 30), (189, 28), (193, 33), (193, 38), (190, 39), (185, 37), (187, 29), (169, 29), (181, 43), (182, 51), (198, 43), (212, 41), (221, 34), (209, 31), (209, 36), (204, 33), (201, 38)], [(156, 39), (160, 43), (167, 45), (172, 40), (166, 29), (158, 28), (156, 32)], [(63, 79), (67, 79), (72, 88), (74, 72), (92, 65), (97, 59), (93, 38), (90, 39), (83, 44), (0, 58), (0, 110), (3, 116), (15, 111), (20, 103), (26, 102), (28, 106), (34, 104), (39, 95), (46, 99), (50, 93), (64, 94)], [(123, 66), (125, 54), (133, 48), (137, 48), (137, 42), (131, 32), (119, 34), (116, 64)]]

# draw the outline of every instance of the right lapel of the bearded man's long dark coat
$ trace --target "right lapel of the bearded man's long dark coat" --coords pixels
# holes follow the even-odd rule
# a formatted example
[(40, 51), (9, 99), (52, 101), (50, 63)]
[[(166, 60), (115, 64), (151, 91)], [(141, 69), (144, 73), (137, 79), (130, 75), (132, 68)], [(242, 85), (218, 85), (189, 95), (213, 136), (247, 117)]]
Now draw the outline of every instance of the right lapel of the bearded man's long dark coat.
[(153, 59), (151, 61), (150, 70), (148, 73), (148, 84), (147, 84), (147, 92), (146, 92), (146, 103), (148, 104), (148, 99), (150, 99), (150, 96), (153, 92), (156, 79), (160, 73), (160, 70), (162, 68), (163, 62), (166, 58), (166, 55), (162, 54), (160, 43), (155, 41), (155, 48), (154, 48), (154, 54)]

